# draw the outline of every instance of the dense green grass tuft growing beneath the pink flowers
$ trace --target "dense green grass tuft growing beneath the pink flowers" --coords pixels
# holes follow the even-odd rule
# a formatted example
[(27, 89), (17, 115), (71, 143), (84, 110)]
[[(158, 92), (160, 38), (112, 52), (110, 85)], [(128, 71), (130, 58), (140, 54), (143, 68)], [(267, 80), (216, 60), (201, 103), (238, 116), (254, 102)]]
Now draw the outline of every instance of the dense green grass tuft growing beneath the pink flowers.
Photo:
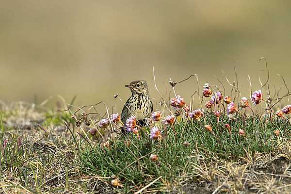
[[(193, 180), (198, 178), (199, 174), (195, 170), (201, 165), (200, 159), (203, 159), (203, 162), (236, 162), (241, 157), (253, 157), (256, 152), (274, 154), (276, 147), (283, 141), (274, 133), (275, 129), (282, 129), (285, 125), (280, 120), (274, 119), (272, 123), (266, 123), (259, 117), (256, 117), (255, 121), (248, 117), (245, 129), (242, 122), (230, 122), (230, 138), (228, 130), (224, 127), (224, 124), (228, 123), (227, 118), (221, 118), (223, 119), (218, 125), (213, 115), (207, 115), (205, 120), (205, 123), (212, 124), (220, 146), (214, 135), (206, 131), (199, 122), (181, 121), (175, 125), (178, 137), (176, 143), (171, 128), (167, 129), (168, 134), (162, 141), (149, 141), (146, 137), (139, 139), (130, 134), (127, 137), (123, 136), (124, 140), (130, 141), (129, 146), (124, 144), (124, 140), (117, 140), (116, 151), (113, 141), (110, 147), (102, 149), (97, 143), (93, 143), (93, 149), (87, 146), (80, 154), (80, 166), (87, 174), (94, 173), (106, 178), (118, 176), (124, 186), (120, 191), (124, 193), (143, 188), (159, 177), (160, 180), (150, 188), (164, 190), (166, 183), (175, 183), (188, 177)], [(265, 125), (262, 125), (261, 121)], [(244, 129), (245, 137), (239, 135), (239, 129)], [(185, 141), (189, 146), (184, 146)], [(151, 153), (158, 156), (157, 162), (150, 160)]]

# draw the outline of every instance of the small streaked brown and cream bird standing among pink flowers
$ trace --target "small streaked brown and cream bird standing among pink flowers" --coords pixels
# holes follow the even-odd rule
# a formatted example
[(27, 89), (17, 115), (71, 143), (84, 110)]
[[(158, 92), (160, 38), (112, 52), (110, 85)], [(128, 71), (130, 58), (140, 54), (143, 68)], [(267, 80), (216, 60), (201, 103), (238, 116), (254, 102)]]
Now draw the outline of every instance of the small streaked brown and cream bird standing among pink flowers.
[(149, 117), (153, 111), (153, 103), (148, 95), (146, 81), (132, 81), (129, 85), (125, 85), (125, 87), (130, 89), (131, 96), (122, 109), (121, 121), (126, 124), (126, 120), (130, 116), (135, 115), (137, 124), (143, 126), (145, 118)]

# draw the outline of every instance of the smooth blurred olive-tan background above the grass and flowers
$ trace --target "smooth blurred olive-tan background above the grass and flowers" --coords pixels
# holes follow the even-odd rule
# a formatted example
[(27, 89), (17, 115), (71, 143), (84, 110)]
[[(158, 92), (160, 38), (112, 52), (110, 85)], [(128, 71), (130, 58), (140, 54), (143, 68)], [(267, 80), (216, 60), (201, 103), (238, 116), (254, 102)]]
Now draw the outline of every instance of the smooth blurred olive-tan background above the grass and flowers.
[[(101, 100), (121, 112), (130, 81), (148, 81), (150, 96), (167, 98), (170, 78), (197, 74), (205, 82), (235, 81), (249, 98), (267, 79), (291, 82), (290, 0), (1, 0), (0, 100), (41, 103), (61, 95), (74, 105)], [(224, 73), (223, 73), (223, 71)], [(263, 70), (263, 71), (262, 71)], [(216, 77), (216, 78), (215, 78)], [(188, 103), (196, 78), (175, 91)], [(282, 89), (286, 93), (286, 89)], [(266, 90), (263, 95), (266, 96)], [(173, 96), (173, 93), (171, 94)], [(55, 106), (55, 99), (48, 106)], [(198, 103), (198, 101), (196, 101)]]

